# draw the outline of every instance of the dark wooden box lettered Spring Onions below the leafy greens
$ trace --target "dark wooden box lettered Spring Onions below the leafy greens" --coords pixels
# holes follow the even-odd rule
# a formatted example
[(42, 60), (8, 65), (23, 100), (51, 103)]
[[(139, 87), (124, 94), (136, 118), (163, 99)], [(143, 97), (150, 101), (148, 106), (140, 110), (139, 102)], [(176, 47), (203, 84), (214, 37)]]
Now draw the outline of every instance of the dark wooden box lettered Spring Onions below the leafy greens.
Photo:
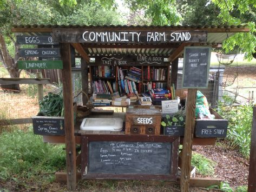
[[(74, 124), (76, 120), (76, 103), (73, 105)], [(65, 135), (64, 117), (37, 116), (32, 117), (33, 130), (36, 135)]]

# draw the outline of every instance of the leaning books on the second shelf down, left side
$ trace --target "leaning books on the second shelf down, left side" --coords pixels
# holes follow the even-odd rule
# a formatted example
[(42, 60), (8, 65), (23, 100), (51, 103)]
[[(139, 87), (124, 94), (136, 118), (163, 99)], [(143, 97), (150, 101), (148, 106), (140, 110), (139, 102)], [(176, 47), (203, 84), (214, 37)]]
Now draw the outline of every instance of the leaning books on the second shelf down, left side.
[[(115, 82), (113, 82), (113, 85), (115, 85)], [(93, 92), (106, 92), (113, 94), (113, 92), (115, 92), (115, 86), (112, 87), (109, 81), (94, 81)]]

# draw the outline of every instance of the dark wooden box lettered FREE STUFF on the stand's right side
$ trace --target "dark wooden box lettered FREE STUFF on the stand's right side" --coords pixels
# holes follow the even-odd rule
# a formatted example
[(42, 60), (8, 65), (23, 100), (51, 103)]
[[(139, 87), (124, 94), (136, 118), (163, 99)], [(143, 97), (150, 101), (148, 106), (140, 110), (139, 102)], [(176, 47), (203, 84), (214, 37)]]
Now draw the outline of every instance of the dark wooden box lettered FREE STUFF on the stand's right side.
[(227, 136), (227, 120), (224, 120), (216, 111), (210, 108), (214, 120), (195, 120), (195, 137), (216, 138)]

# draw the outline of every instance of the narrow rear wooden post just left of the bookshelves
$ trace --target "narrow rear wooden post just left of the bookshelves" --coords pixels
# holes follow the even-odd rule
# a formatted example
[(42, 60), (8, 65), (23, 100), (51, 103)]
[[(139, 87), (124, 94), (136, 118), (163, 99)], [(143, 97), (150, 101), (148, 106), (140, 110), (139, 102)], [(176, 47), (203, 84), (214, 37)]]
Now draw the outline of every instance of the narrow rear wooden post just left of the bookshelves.
[[(88, 67), (84, 58), (81, 58), (81, 77), (82, 77), (82, 91), (88, 95)], [(82, 94), (83, 105), (88, 102), (87, 97)]]

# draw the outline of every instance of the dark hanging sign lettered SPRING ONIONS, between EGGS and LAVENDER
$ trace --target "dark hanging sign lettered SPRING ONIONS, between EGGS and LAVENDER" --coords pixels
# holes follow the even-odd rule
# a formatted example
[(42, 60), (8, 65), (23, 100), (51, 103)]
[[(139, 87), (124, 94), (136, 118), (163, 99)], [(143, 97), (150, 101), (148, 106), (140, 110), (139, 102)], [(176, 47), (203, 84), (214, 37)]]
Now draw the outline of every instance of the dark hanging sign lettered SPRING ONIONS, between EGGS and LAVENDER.
[(20, 57), (60, 57), (59, 48), (19, 49)]

